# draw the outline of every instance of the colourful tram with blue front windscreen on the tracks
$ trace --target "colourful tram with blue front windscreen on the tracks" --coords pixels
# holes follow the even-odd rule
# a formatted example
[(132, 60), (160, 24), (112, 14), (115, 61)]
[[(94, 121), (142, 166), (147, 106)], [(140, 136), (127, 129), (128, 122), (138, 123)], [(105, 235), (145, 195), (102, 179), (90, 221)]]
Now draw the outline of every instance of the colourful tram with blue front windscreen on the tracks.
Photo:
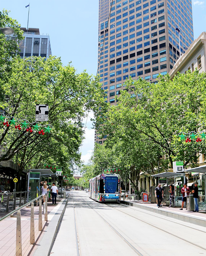
[(89, 197), (98, 202), (119, 202), (121, 200), (120, 175), (100, 174), (89, 180)]

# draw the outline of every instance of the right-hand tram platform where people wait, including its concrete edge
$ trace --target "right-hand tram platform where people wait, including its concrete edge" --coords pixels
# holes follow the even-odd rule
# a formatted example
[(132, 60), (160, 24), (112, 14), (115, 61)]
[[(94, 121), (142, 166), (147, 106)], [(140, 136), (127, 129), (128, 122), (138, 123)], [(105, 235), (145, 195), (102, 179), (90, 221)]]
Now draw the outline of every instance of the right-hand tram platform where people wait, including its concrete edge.
[(172, 217), (174, 219), (206, 227), (206, 211), (193, 212), (187, 211), (186, 208), (183, 208), (183, 210), (181, 211), (180, 207), (169, 208), (167, 206), (162, 206), (158, 208), (157, 204), (152, 204), (150, 202), (142, 202), (138, 200), (121, 200), (121, 203), (137, 207), (142, 210), (147, 210), (167, 217)]

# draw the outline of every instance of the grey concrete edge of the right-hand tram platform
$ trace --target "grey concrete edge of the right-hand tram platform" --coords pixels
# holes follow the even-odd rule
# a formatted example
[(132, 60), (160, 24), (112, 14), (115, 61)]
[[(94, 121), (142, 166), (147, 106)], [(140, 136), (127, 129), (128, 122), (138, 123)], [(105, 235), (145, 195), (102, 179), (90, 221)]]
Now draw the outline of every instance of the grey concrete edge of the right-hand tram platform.
[(123, 200), (121, 200), (121, 204), (126, 204), (126, 205), (129, 205), (129, 206), (137, 207), (137, 208), (142, 209), (142, 210), (154, 212), (154, 213), (161, 214), (161, 215), (164, 215), (164, 216), (167, 216), (167, 217), (171, 217), (171, 218), (174, 218), (174, 219), (178, 219), (178, 220), (181, 220), (181, 221), (185, 221), (185, 222), (196, 224), (196, 225), (199, 225), (199, 226), (202, 226), (202, 227), (206, 227), (206, 220), (195, 217), (195, 216), (194, 217), (189, 217), (189, 216), (186, 216), (184, 214), (177, 214), (177, 213), (166, 211), (166, 210), (158, 210), (158, 209), (155, 209), (153, 207), (149, 207), (149, 206), (145, 206), (145, 205), (141, 205), (141, 204), (133, 203), (133, 202), (129, 202), (129, 201), (123, 201)]

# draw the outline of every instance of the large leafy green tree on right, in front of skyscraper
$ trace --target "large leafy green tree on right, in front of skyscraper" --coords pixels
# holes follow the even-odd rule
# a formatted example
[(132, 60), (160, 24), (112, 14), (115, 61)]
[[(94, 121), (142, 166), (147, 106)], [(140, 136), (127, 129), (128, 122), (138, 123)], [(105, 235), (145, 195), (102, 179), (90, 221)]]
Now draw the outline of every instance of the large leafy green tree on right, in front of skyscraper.
[(183, 160), (184, 166), (196, 164), (198, 155), (205, 152), (205, 140), (186, 143), (178, 134), (205, 129), (205, 77), (195, 70), (178, 74), (172, 81), (168, 75), (160, 76), (158, 83), (128, 79), (127, 90), (121, 91), (118, 105), (105, 114), (98, 132), (108, 134), (107, 140), (113, 143), (128, 140), (129, 134), (136, 139), (136, 133), (161, 149), (171, 166), (174, 160)]

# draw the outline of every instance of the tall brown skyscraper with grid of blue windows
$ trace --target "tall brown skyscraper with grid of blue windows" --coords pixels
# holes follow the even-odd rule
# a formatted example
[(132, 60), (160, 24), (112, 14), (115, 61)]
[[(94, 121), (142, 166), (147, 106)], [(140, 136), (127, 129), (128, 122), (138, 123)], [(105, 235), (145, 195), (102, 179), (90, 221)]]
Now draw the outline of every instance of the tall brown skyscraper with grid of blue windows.
[(179, 45), (183, 54), (194, 41), (191, 0), (99, 0), (98, 35), (100, 82), (116, 104), (129, 76), (156, 83), (173, 68)]

